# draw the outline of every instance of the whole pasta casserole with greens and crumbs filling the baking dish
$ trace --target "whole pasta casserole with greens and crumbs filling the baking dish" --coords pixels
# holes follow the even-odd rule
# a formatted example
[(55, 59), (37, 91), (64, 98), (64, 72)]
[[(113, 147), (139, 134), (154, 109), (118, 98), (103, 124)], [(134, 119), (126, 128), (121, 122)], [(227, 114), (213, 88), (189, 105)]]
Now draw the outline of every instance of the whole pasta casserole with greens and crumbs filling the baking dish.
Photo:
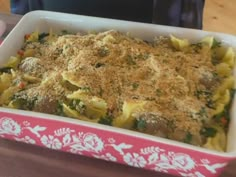
[(0, 70), (0, 105), (224, 151), (234, 63), (213, 37), (34, 32)]

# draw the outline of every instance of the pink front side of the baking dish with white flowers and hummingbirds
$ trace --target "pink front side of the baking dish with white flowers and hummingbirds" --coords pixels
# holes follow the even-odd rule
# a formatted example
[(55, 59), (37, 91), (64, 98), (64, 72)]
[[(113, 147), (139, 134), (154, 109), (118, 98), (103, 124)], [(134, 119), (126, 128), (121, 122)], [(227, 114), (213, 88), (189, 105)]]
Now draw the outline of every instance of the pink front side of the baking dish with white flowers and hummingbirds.
[[(69, 119), (68, 119), (69, 120)], [(206, 154), (59, 119), (0, 112), (0, 136), (50, 149), (186, 177), (214, 177), (236, 157)]]

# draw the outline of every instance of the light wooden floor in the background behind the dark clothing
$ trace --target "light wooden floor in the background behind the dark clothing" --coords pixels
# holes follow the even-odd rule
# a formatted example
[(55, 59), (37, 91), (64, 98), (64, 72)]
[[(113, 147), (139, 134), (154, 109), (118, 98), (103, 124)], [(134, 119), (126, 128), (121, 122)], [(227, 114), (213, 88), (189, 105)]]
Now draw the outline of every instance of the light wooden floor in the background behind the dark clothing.
[[(206, 0), (203, 30), (236, 35), (236, 0)], [(10, 13), (9, 0), (0, 0), (0, 12)]]

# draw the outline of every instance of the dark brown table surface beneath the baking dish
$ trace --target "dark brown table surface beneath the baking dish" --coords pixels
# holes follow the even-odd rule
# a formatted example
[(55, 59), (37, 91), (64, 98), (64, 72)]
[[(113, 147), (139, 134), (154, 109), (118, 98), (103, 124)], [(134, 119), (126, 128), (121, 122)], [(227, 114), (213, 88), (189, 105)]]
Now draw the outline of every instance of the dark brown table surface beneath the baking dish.
[[(0, 14), (9, 31), (21, 16)], [(172, 177), (29, 144), (0, 138), (0, 177)], [(236, 176), (236, 161), (230, 163), (222, 177)]]

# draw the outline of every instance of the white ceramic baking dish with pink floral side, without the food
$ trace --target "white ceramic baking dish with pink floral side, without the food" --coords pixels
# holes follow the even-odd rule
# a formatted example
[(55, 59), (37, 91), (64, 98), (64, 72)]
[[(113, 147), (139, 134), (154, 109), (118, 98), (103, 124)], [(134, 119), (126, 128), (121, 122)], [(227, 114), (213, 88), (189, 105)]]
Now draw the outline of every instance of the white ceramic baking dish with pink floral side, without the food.
[[(105, 31), (115, 29), (145, 40), (173, 34), (196, 42), (214, 36), (224, 45), (236, 48), (236, 38), (192, 29), (110, 20), (55, 12), (35, 11), (25, 15), (4, 40), (0, 64), (16, 55), (25, 34), (48, 32)], [(236, 158), (233, 141), (236, 122), (235, 98), (231, 108), (227, 152), (215, 152), (180, 142), (43, 113), (0, 108), (0, 136), (55, 150), (101, 158), (179, 176), (217, 176)]]

